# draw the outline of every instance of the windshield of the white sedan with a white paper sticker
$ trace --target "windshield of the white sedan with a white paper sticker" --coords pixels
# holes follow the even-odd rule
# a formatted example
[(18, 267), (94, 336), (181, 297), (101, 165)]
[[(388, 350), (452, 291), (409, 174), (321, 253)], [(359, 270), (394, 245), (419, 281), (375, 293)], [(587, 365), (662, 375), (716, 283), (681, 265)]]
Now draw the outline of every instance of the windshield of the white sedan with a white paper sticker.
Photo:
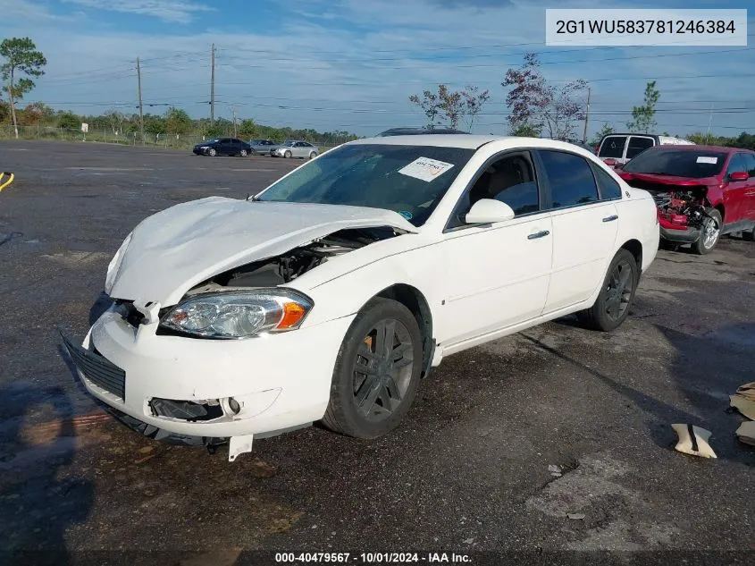
[(424, 224), (474, 149), (353, 145), (332, 149), (259, 200), (385, 208)]

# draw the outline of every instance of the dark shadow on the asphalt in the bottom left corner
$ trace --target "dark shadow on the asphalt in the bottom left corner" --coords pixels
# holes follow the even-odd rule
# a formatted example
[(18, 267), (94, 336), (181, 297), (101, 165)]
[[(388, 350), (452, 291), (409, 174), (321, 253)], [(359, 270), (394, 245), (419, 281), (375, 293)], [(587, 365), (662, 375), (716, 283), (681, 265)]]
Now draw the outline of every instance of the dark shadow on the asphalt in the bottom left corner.
[[(94, 483), (68, 476), (77, 452), (73, 404), (60, 387), (16, 383), (0, 388), (0, 414), (0, 556), (69, 564), (66, 531), (87, 520), (94, 503)], [(29, 426), (40, 414), (52, 418)]]

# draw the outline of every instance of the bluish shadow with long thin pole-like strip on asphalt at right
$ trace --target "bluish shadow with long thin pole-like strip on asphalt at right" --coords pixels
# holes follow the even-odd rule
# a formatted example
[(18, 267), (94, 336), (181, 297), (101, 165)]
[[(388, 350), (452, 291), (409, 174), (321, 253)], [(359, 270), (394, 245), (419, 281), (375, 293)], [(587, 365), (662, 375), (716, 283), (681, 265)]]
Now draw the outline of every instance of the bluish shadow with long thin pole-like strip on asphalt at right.
[[(747, 345), (746, 337), (751, 336), (749, 340), (755, 344), (755, 324), (727, 327), (710, 337), (692, 336), (662, 325), (655, 326), (675, 348), (670, 374), (679, 392), (694, 410), (684, 410), (661, 401), (594, 367), (588, 367), (579, 359), (558, 351), (533, 336), (520, 335), (543, 351), (548, 351), (595, 377), (641, 409), (647, 416), (645, 426), (648, 427), (650, 437), (660, 448), (675, 446), (677, 437), (671, 428), (672, 424), (692, 424), (711, 431), (711, 445), (719, 460), (734, 460), (751, 465), (752, 451), (739, 443), (734, 435), (743, 418), (738, 414), (731, 414), (728, 395), (735, 393), (739, 385), (755, 380), (755, 376), (751, 373), (748, 376), (747, 370), (743, 369), (750, 367), (748, 360), (751, 359), (752, 346)], [(731, 340), (732, 335), (741, 336), (742, 344), (729, 342), (728, 347), (722, 345), (721, 342), (727, 338)]]

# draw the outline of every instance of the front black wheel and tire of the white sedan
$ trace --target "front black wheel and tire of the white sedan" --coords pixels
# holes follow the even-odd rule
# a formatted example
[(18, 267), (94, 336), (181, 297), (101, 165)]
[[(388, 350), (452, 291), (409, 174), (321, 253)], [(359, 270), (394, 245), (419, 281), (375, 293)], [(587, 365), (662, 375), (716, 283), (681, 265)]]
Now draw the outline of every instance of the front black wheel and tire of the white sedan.
[[(388, 356), (379, 355), (381, 342), (387, 343), (377, 335), (381, 328), (386, 331), (382, 336), (391, 333)], [(387, 363), (388, 359), (393, 362)], [(422, 361), (422, 334), (411, 311), (395, 300), (371, 300), (341, 343), (323, 425), (357, 438), (389, 433), (398, 427), (415, 400)], [(370, 369), (372, 375), (355, 367)]]

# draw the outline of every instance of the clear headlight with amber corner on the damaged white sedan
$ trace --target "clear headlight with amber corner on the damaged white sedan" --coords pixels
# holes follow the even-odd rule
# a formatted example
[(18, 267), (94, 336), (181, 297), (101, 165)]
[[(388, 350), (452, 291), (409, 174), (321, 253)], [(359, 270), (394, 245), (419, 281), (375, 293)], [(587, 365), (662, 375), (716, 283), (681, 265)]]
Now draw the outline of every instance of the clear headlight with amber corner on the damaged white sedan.
[(197, 295), (164, 316), (161, 326), (209, 338), (248, 338), (296, 330), (313, 307), (288, 289), (250, 289)]

